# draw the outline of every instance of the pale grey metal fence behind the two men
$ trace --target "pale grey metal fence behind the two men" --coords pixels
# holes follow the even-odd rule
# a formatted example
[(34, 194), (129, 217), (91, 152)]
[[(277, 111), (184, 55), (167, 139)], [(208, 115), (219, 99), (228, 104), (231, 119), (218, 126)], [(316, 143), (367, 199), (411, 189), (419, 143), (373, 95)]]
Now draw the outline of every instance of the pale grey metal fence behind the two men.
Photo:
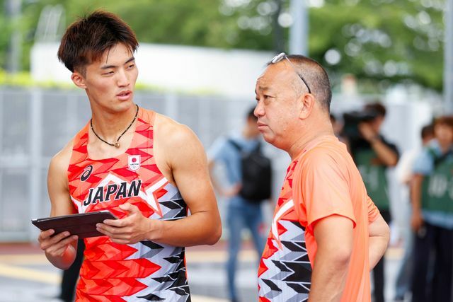
[[(144, 92), (136, 93), (134, 100), (187, 124), (205, 148), (220, 135), (239, 131), (245, 112), (254, 104), (253, 100)], [(362, 98), (343, 101), (337, 96), (333, 112), (360, 108), (362, 102)], [(388, 107), (384, 130), (402, 149), (411, 148), (418, 140), (418, 126), (430, 118), (429, 103), (389, 103)], [(30, 219), (50, 213), (46, 185), (50, 158), (90, 117), (83, 91), (0, 88), (0, 241), (35, 240), (38, 230)], [(289, 158), (273, 147), (266, 148), (275, 160), (278, 188)]]

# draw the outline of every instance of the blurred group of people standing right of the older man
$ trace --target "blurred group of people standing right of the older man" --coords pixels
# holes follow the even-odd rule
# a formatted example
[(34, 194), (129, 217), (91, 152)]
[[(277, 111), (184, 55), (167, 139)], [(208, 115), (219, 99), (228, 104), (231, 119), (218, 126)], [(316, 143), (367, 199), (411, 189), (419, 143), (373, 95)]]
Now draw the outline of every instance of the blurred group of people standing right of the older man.
[[(451, 301), (453, 260), (453, 117), (437, 117), (420, 132), (421, 146), (398, 152), (381, 134), (386, 108), (379, 102), (331, 115), (334, 132), (348, 146), (367, 193), (387, 223), (392, 221), (386, 169), (396, 167), (401, 185), (398, 213), (404, 254), (394, 301)], [(384, 301), (385, 257), (374, 268), (374, 301)]]

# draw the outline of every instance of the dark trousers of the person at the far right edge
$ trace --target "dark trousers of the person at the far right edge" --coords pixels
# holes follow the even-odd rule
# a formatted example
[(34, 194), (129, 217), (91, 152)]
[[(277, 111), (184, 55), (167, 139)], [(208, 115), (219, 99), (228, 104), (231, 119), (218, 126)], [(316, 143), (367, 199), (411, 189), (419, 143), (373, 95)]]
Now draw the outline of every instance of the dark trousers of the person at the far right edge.
[(412, 301), (452, 301), (453, 230), (425, 223), (425, 231), (415, 235)]

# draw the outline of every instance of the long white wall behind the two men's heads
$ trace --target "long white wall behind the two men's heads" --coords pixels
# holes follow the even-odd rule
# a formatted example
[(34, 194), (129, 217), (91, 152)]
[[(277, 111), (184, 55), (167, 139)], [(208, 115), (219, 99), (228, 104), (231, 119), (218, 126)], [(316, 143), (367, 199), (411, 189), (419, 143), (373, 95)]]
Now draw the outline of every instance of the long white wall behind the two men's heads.
[[(70, 83), (69, 71), (57, 59), (58, 46), (59, 43), (33, 46), (30, 59), (33, 79)], [(139, 83), (169, 91), (254, 98), (256, 79), (273, 54), (143, 43), (135, 57)]]

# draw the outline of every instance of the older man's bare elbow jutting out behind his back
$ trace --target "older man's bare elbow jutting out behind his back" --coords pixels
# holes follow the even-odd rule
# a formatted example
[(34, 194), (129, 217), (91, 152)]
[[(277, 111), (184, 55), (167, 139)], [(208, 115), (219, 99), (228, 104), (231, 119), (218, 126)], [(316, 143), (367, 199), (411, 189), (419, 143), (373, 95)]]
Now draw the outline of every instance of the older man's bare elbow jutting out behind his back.
[(390, 229), (381, 214), (368, 225), (369, 269), (372, 270), (389, 245)]

